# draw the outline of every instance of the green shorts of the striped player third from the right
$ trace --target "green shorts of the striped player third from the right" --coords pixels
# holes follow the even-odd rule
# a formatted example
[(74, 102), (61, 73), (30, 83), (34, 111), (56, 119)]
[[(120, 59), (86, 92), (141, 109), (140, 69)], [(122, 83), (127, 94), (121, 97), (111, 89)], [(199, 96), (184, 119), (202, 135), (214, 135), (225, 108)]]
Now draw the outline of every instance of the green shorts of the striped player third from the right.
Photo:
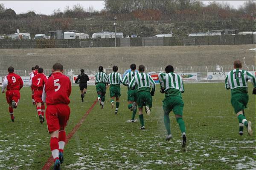
[(150, 92), (140, 91), (137, 92), (137, 104), (139, 108), (143, 108), (143, 106), (152, 107), (152, 96)]

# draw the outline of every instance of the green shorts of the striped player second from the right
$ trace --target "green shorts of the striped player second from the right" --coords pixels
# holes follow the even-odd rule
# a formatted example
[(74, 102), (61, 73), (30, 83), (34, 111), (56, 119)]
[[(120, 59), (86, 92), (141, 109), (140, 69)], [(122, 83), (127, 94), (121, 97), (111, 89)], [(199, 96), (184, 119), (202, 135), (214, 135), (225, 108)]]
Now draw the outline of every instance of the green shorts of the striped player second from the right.
[(163, 112), (168, 114), (173, 110), (175, 115), (183, 115), (184, 102), (181, 96), (169, 96), (163, 100)]

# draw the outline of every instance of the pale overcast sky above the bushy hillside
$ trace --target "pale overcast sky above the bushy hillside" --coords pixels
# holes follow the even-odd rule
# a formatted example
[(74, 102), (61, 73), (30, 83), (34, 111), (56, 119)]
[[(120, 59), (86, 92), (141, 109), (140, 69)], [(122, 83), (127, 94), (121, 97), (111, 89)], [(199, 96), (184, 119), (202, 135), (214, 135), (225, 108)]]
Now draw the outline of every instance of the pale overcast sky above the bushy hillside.
[[(212, 0), (203, 0), (205, 4), (208, 4)], [(244, 0), (218, 0), (220, 2), (228, 2), (231, 6), (238, 8), (244, 3)], [(28, 11), (34, 11), (37, 14), (52, 14), (54, 9), (61, 9), (64, 11), (66, 6), (72, 7), (75, 4), (81, 4), (87, 9), (90, 6), (93, 6), (96, 10), (101, 10), (104, 8), (103, 0), (36, 0), (36, 1), (18, 1), (18, 0), (0, 0), (0, 3), (3, 3), (4, 6), (9, 9), (13, 9), (17, 14), (26, 13)]]

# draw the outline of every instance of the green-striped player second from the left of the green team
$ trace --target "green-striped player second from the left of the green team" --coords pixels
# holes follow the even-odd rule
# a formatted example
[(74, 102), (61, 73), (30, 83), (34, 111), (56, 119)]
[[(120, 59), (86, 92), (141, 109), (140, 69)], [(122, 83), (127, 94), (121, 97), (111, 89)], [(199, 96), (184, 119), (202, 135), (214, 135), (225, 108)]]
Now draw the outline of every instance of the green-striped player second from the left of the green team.
[(113, 72), (108, 75), (108, 83), (110, 84), (109, 92), (110, 92), (110, 98), (111, 98), (111, 109), (115, 106), (115, 98), (116, 98), (116, 111), (115, 114), (118, 112), (119, 108), (119, 98), (121, 96), (120, 93), (120, 84), (122, 84), (122, 76), (120, 73), (117, 72), (118, 67), (113, 66)]

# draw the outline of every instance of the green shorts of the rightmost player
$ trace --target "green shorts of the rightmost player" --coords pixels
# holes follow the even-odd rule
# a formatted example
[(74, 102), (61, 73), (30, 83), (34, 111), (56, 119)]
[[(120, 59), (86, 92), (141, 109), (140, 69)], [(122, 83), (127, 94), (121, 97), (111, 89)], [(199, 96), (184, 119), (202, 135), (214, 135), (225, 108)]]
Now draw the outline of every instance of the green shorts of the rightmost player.
[(249, 96), (247, 93), (236, 93), (231, 95), (231, 104), (235, 110), (235, 113), (238, 113), (244, 110), (247, 107)]

